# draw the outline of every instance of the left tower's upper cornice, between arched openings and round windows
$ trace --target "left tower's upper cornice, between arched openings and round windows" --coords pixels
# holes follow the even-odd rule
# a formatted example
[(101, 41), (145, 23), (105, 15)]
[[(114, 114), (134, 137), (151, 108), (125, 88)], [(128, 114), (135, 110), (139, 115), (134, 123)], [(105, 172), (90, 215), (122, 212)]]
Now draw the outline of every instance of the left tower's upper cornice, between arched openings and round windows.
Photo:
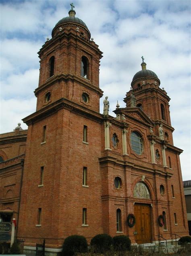
[(98, 93), (100, 95), (100, 97), (103, 96), (103, 91), (99, 88), (99, 87), (96, 87), (94, 85), (92, 85), (90, 83), (89, 80), (85, 80), (85, 78), (79, 78), (78, 76), (74, 76), (72, 74), (60, 74), (60, 75), (56, 75), (56, 76), (52, 76), (50, 77), (49, 79), (46, 80), (46, 83), (44, 83), (43, 85), (41, 85), (40, 87), (37, 87), (37, 89), (35, 89), (34, 93), (35, 93), (35, 96), (37, 97), (38, 93), (42, 90), (44, 90), (46, 87), (56, 83), (57, 81), (60, 82), (60, 80), (64, 80), (65, 82), (67, 82), (68, 80), (72, 80), (72, 81), (75, 81), (87, 88), (90, 88), (91, 90), (93, 91), (96, 91), (96, 93)]

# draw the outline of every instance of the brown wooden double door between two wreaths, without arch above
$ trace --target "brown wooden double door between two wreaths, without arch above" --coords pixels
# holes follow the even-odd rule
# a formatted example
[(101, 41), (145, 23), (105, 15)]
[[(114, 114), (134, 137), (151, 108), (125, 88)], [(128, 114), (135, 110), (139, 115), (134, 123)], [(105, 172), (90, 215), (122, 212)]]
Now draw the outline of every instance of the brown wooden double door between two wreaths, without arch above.
[(150, 205), (135, 204), (135, 240), (136, 243), (151, 243), (151, 209)]

